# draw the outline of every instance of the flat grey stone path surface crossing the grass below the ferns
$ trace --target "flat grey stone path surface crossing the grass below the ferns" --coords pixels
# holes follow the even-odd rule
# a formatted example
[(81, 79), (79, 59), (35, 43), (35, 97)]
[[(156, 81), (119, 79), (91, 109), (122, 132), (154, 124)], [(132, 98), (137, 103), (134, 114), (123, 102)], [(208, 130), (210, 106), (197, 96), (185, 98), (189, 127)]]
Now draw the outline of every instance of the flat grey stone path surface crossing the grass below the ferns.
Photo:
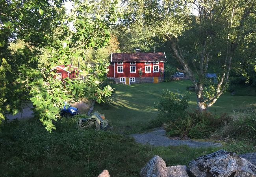
[(180, 146), (187, 145), (189, 147), (221, 147), (221, 143), (215, 142), (199, 142), (194, 140), (173, 140), (166, 136), (163, 128), (154, 129), (152, 132), (132, 134), (137, 143), (151, 144), (154, 146)]

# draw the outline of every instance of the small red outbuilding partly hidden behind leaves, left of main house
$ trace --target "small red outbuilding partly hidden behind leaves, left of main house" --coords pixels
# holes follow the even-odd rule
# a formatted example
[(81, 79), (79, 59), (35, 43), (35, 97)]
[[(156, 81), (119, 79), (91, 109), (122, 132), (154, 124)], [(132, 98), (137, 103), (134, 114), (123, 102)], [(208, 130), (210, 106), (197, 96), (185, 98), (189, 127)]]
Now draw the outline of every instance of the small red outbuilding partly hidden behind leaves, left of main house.
[(79, 73), (78, 68), (72, 65), (59, 65), (52, 68), (52, 70), (56, 70), (56, 78), (62, 81), (66, 77), (74, 79)]

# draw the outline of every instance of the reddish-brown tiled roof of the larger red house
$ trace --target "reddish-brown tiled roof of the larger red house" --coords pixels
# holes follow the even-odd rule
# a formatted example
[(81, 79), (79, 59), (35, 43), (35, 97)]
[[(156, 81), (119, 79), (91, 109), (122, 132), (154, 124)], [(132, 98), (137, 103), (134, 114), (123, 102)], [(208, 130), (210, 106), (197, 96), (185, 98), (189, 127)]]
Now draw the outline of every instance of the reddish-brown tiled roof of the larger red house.
[(166, 61), (164, 52), (156, 53), (112, 53), (111, 62), (155, 62)]

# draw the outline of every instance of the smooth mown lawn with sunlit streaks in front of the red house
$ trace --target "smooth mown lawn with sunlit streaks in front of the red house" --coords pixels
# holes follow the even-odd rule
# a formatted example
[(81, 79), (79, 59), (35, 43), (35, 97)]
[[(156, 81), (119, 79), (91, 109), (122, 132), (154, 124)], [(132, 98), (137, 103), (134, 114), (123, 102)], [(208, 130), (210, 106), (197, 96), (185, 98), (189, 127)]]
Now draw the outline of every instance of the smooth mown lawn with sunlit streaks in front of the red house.
[[(116, 84), (113, 107), (105, 109), (96, 105), (95, 109), (106, 115), (111, 126), (120, 133), (130, 134), (141, 131), (151, 119), (157, 117), (154, 103), (158, 101), (163, 90), (170, 90), (176, 94), (186, 92), (191, 85), (190, 80), (171, 81), (159, 84), (142, 83), (135, 85)], [(217, 114), (230, 113), (234, 109), (256, 103), (255, 96), (232, 96), (226, 92), (208, 110)], [(190, 92), (188, 110), (197, 108), (195, 92)]]

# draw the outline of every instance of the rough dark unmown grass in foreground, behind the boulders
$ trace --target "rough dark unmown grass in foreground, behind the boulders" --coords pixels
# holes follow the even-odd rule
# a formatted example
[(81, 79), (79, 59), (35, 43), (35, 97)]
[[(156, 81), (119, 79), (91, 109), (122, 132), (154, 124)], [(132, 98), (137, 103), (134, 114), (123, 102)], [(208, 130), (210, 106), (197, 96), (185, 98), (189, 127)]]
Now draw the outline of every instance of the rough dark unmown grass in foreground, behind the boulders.
[[(134, 142), (130, 136), (111, 131), (79, 130), (76, 118), (55, 123), (48, 133), (37, 119), (20, 121), (0, 133), (1, 176), (98, 176), (104, 169), (111, 176), (135, 177), (154, 155), (168, 166), (188, 164), (192, 159), (220, 147), (153, 147)], [(246, 153), (254, 147), (243, 142), (225, 144), (222, 149)]]

